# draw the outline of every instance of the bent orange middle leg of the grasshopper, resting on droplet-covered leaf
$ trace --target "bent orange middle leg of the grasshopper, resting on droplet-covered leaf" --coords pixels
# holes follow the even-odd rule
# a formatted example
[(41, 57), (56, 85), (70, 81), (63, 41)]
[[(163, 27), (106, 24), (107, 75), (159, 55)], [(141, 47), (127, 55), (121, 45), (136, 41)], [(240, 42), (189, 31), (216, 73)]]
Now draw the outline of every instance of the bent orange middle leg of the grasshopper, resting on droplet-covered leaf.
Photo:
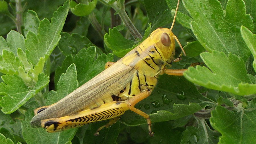
[(135, 95), (134, 97), (129, 99), (129, 101), (127, 102), (127, 105), (131, 111), (133, 111), (147, 119), (149, 135), (152, 137), (154, 135), (154, 132), (152, 132), (152, 130), (151, 130), (151, 120), (149, 118), (149, 115), (134, 107), (139, 101), (145, 99), (150, 94), (151, 94), (151, 91), (149, 91), (149, 90), (143, 91), (139, 95)]

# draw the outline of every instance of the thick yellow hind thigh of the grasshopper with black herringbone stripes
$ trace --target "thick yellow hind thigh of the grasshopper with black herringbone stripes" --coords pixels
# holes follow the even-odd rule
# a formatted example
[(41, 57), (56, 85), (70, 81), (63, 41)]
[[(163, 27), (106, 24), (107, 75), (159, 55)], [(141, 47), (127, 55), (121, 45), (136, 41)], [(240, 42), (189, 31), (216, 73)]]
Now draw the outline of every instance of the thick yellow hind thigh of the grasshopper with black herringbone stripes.
[(79, 127), (90, 122), (115, 118), (122, 115), (128, 109), (126, 101), (113, 101), (100, 105), (99, 107), (83, 110), (77, 114), (45, 119), (42, 120), (41, 123), (42, 127), (46, 128), (47, 132), (59, 132)]

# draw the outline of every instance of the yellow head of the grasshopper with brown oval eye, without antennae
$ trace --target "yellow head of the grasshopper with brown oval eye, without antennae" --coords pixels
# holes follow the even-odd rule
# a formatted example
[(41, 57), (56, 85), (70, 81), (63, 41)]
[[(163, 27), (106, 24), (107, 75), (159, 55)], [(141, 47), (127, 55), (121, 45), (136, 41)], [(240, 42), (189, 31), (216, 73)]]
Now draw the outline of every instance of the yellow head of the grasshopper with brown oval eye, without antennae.
[(175, 53), (175, 38), (174, 34), (168, 28), (158, 28), (154, 30), (150, 37), (156, 43), (164, 56), (167, 63), (172, 62)]

